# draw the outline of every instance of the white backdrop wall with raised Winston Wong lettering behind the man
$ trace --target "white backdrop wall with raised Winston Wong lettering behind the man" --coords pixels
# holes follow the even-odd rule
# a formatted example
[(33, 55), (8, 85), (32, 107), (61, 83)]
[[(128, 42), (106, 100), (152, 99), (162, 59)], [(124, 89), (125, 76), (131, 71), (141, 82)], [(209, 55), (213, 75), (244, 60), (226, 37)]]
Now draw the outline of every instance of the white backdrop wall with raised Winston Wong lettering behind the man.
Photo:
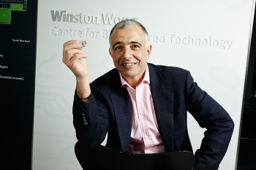
[[(188, 69), (236, 125), (220, 169), (236, 165), (246, 61), (254, 0), (38, 1), (33, 169), (81, 169), (72, 125), (75, 76), (62, 63), (62, 46), (86, 40), (90, 81), (113, 68), (108, 34), (122, 18), (137, 18), (153, 45), (148, 62)], [(203, 131), (189, 115), (192, 147)]]

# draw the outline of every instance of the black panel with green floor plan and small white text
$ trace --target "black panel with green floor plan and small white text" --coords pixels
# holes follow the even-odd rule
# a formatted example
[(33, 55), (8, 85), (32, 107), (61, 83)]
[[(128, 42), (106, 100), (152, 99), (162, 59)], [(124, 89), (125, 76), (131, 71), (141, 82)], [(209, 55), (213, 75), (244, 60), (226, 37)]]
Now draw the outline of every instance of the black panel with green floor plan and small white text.
[(37, 1), (0, 4), (1, 167), (31, 169)]

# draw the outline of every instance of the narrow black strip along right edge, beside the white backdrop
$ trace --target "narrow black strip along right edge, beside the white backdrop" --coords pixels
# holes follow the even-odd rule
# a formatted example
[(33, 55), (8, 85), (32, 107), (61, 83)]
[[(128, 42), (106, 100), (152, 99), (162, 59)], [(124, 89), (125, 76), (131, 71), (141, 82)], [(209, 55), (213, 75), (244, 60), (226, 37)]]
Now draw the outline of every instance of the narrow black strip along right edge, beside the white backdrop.
[[(255, 13), (256, 15), (256, 13)], [(256, 17), (252, 28), (237, 170), (256, 169)]]

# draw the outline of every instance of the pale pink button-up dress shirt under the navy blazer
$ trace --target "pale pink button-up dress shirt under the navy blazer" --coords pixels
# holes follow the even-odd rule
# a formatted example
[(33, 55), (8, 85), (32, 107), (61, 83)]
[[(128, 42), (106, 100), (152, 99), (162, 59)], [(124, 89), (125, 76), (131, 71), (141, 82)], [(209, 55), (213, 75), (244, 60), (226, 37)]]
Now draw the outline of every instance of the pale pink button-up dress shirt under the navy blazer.
[(128, 90), (132, 104), (132, 133), (129, 141), (129, 152), (165, 152), (151, 96), (148, 65), (145, 76), (136, 89), (132, 88), (121, 74), (120, 78), (121, 84)]

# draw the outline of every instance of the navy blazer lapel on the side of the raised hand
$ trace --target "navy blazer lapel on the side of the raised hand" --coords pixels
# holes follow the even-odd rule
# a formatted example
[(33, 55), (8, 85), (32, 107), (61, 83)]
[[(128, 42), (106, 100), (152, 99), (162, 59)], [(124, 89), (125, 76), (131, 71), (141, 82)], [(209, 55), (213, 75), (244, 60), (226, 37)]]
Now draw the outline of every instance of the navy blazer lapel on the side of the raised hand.
[(113, 93), (110, 98), (116, 115), (116, 124), (121, 142), (121, 150), (129, 150), (129, 139), (132, 131), (132, 115), (129, 94), (126, 88), (121, 86), (121, 80), (118, 74), (116, 82), (113, 85)]

